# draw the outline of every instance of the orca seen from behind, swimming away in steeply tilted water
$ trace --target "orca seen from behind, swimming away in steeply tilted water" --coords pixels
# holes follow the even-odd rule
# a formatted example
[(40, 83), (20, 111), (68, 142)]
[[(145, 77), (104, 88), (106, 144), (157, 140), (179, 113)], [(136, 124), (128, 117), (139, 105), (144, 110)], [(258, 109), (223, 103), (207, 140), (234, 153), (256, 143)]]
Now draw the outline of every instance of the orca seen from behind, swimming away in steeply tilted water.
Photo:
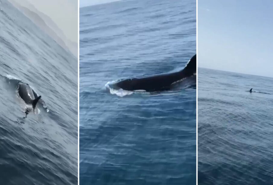
[(26, 102), (26, 104), (31, 105), (33, 110), (35, 109), (41, 96), (35, 98), (33, 94), (33, 89), (26, 83), (22, 82), (18, 86), (19, 96)]

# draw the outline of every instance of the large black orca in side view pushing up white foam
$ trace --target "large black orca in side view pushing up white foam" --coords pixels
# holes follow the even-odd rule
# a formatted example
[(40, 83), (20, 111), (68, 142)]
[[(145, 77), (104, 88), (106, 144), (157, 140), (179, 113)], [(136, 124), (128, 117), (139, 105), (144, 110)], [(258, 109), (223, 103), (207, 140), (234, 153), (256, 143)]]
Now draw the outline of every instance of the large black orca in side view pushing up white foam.
[(189, 60), (185, 68), (179, 72), (129, 78), (117, 82), (114, 84), (114, 86), (126, 91), (167, 91), (170, 90), (171, 85), (175, 84), (176, 82), (195, 75), (196, 54)]

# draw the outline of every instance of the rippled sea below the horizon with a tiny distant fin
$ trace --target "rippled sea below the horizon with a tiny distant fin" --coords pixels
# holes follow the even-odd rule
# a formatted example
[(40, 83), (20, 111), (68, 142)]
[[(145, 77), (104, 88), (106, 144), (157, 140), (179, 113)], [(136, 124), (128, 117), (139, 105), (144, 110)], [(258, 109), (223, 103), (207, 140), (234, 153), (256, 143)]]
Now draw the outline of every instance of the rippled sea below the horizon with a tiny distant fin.
[(272, 84), (198, 68), (198, 184), (273, 184)]

